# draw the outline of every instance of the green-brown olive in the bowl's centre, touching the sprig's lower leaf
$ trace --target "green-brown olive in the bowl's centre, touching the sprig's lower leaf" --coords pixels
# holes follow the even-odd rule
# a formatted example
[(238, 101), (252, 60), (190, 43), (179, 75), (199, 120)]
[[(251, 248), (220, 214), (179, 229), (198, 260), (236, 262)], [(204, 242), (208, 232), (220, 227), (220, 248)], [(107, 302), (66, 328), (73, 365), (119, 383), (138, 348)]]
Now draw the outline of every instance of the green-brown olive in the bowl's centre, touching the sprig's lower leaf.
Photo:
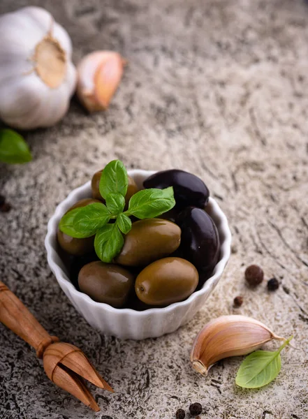
[(127, 266), (142, 266), (173, 253), (181, 242), (181, 229), (163, 219), (145, 219), (133, 223), (124, 238), (124, 246), (115, 259)]

